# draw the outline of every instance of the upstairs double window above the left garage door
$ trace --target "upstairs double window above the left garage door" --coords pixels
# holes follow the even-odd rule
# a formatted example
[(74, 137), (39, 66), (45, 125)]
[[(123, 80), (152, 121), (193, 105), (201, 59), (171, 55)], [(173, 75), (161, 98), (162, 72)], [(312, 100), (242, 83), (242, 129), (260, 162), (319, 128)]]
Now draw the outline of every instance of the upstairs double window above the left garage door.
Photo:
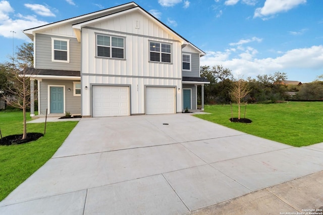
[(96, 35), (96, 56), (125, 58), (125, 39), (122, 37), (112, 37)]

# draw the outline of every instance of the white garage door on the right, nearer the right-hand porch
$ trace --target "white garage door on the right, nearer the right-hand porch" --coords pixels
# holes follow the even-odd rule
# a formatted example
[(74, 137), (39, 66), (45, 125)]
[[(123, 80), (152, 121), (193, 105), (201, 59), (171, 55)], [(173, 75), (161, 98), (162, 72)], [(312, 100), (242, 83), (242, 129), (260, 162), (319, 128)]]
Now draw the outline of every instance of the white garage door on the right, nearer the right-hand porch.
[(146, 87), (146, 114), (175, 113), (175, 88)]

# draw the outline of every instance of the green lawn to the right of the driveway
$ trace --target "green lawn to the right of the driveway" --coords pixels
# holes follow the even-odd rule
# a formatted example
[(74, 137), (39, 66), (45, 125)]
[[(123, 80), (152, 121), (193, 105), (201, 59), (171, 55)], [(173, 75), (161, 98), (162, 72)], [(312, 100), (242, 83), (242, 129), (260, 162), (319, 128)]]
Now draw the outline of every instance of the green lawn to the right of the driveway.
[[(244, 110), (242, 107), (241, 118)], [(248, 104), (246, 118), (252, 120), (250, 124), (231, 122), (230, 105), (206, 105), (205, 112), (211, 114), (195, 116), (291, 146), (323, 142), (323, 102)], [(237, 105), (233, 105), (233, 117), (238, 117)]]

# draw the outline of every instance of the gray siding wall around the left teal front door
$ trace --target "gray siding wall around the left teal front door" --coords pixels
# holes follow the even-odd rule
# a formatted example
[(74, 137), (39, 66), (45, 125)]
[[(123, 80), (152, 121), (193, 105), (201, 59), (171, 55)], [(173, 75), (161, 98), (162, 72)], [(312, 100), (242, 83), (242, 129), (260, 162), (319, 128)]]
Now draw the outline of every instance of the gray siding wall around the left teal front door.
[[(40, 82), (40, 98), (38, 102), (40, 103), (39, 114), (45, 115), (46, 109), (48, 108), (48, 85), (65, 85), (65, 107), (66, 111), (71, 114), (81, 113), (81, 96), (73, 96), (73, 82), (79, 82), (80, 80), (45, 80)], [(71, 91), (68, 91), (71, 89)]]

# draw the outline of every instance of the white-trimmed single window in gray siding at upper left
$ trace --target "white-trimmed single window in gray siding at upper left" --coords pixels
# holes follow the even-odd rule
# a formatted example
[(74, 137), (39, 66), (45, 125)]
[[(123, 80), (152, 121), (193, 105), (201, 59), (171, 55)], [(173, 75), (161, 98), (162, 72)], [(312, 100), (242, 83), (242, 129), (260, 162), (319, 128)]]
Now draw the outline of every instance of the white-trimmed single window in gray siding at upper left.
[(51, 38), (51, 61), (70, 62), (70, 40)]

